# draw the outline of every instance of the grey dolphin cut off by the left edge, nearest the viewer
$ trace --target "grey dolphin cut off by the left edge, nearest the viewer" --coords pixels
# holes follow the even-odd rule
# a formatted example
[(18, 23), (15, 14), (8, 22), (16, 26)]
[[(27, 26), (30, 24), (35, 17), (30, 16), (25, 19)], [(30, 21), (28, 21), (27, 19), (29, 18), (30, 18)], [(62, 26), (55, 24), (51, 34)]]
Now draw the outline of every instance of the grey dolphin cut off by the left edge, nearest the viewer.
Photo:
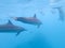
[(26, 29), (22, 27), (14, 26), (10, 20), (5, 25), (0, 25), (0, 32), (1, 33), (17, 33), (16, 36)]

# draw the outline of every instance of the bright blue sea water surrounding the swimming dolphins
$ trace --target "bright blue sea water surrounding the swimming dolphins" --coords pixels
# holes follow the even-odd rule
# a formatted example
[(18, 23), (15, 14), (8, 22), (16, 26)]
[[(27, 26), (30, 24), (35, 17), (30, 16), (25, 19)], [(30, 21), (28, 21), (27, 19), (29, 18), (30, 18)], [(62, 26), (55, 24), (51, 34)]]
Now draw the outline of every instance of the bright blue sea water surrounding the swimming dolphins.
[[(55, 2), (54, 6), (63, 5), (65, 12), (65, 1)], [(43, 23), (40, 28), (11, 18), (32, 17), (34, 14)], [(0, 33), (0, 48), (65, 48), (65, 21), (58, 19), (60, 15), (50, 5), (50, 0), (0, 0), (0, 25), (10, 19), (13, 25), (27, 29), (18, 36), (16, 33)]]

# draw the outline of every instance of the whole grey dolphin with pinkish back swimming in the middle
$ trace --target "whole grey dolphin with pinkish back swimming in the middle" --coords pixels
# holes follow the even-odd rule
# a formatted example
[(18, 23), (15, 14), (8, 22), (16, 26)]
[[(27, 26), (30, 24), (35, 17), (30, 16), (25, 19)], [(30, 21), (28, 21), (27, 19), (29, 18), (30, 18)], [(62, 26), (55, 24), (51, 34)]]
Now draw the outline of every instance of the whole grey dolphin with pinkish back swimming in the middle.
[(35, 25), (38, 26), (38, 28), (40, 27), (40, 25), (42, 23), (37, 17), (36, 14), (34, 15), (34, 17), (13, 17), (15, 20), (17, 21), (22, 21), (24, 23), (29, 23), (29, 25)]

